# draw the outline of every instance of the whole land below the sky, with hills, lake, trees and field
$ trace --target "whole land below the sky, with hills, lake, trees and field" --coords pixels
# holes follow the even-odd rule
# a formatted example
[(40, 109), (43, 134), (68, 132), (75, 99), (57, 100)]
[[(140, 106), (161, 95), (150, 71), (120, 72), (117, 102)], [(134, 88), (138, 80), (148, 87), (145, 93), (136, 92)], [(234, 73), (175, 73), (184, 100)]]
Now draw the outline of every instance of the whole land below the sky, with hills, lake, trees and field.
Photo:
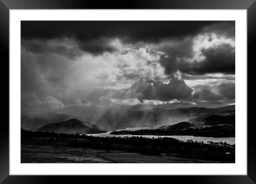
[[(235, 162), (234, 108), (106, 112), (105, 124), (100, 122), (106, 114), (97, 121), (90, 116), (91, 122), (86, 117), (80, 117), (83, 121), (63, 120), (71, 116), (57, 113), (23, 115), (21, 160), (22, 163)], [(110, 122), (114, 129), (110, 129)]]

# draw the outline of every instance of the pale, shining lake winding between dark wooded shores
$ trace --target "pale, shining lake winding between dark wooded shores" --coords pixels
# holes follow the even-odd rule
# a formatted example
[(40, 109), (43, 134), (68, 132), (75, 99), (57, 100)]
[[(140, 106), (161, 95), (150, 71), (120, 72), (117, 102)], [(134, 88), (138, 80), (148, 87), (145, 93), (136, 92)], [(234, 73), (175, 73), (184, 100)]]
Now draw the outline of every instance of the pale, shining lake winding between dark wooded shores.
[[(149, 127), (136, 127), (136, 128), (125, 128), (122, 130), (138, 130), (138, 129), (149, 129)], [(116, 131), (121, 131), (120, 130), (116, 130)], [(113, 132), (113, 131), (110, 131)], [(87, 134), (88, 136), (95, 136), (95, 137), (133, 137), (133, 136), (137, 136), (137, 135), (131, 135), (131, 134), (125, 134), (125, 135), (112, 135), (109, 134), (110, 132), (107, 133), (95, 133), (95, 134)], [(139, 136), (139, 135), (138, 135)], [(139, 136), (141, 137), (141, 136)], [(176, 138), (179, 140), (188, 140), (188, 139), (193, 139), (193, 141), (203, 141), (204, 143), (206, 143), (207, 141), (213, 141), (213, 142), (227, 142), (228, 144), (235, 144), (235, 137), (228, 137), (228, 138), (222, 138), (222, 137), (194, 137), (194, 136), (151, 136), (151, 135), (143, 135), (142, 137), (147, 137), (147, 138), (157, 138), (157, 137), (171, 137), (171, 138)]]

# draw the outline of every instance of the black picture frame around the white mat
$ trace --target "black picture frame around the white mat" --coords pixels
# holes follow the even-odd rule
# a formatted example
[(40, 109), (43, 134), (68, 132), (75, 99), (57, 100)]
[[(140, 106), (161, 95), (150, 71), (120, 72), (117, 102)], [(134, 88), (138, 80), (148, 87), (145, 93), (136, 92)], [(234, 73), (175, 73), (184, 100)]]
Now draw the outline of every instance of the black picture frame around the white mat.
[[(0, 0), (0, 52), (2, 64), (2, 83), (6, 82), (9, 75), (9, 10), (11, 9), (246, 9), (247, 10), (247, 68), (253, 70), (252, 63), (255, 62), (254, 52), (256, 49), (256, 2), (255, 0), (129, 0), (129, 1), (102, 1), (97, 0)], [(250, 67), (248, 67), (250, 63)], [(8, 70), (7, 70), (8, 68)], [(6, 72), (6, 73), (5, 73)], [(8, 72), (8, 73), (7, 73)], [(254, 84), (253, 72), (247, 70), (247, 84)], [(251, 82), (251, 83), (250, 83)], [(253, 85), (254, 86), (254, 85)], [(7, 101), (8, 90), (3, 90), (2, 102)], [(253, 90), (247, 87), (247, 98), (253, 103)], [(9, 103), (9, 99), (8, 99)], [(7, 104), (7, 102), (6, 102)], [(4, 107), (2, 105), (2, 107)], [(8, 109), (8, 110), (7, 110)], [(247, 103), (247, 114), (251, 116)], [(5, 112), (6, 111), (6, 112)], [(9, 105), (3, 108), (1, 121), (0, 139), (0, 182), (7, 183), (73, 183), (80, 181), (102, 181), (131, 183), (138, 181), (137, 176), (21, 176), (9, 175)], [(8, 117), (7, 117), (8, 115)], [(249, 121), (247, 116), (247, 175), (232, 176), (161, 176), (159, 181), (178, 181), (179, 183), (255, 183), (256, 182), (256, 139), (255, 122)], [(111, 179), (110, 179), (111, 178)], [(86, 180), (85, 180), (86, 179)], [(154, 178), (155, 179), (155, 178)], [(152, 182), (152, 177), (144, 177), (143, 183)], [(105, 182), (106, 183), (106, 182)]]

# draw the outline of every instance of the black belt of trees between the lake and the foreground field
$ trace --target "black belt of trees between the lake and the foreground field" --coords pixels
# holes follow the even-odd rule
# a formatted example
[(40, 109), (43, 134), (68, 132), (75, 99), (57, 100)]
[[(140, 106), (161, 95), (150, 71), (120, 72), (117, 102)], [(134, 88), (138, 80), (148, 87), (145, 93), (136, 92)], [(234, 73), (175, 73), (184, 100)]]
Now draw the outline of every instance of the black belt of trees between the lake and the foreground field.
[(235, 162), (235, 148), (228, 147), (226, 144), (220, 146), (210, 142), (208, 144), (202, 141), (194, 142), (192, 139), (183, 141), (169, 137), (94, 137), (85, 134), (32, 132), (21, 129), (21, 141), (23, 144), (28, 140), (30, 144), (36, 141), (33, 139), (34, 137), (45, 138), (46, 145), (49, 144), (48, 140), (50, 138), (56, 145), (64, 145), (65, 143), (68, 147), (119, 150), (143, 155), (166, 155), (188, 159)]

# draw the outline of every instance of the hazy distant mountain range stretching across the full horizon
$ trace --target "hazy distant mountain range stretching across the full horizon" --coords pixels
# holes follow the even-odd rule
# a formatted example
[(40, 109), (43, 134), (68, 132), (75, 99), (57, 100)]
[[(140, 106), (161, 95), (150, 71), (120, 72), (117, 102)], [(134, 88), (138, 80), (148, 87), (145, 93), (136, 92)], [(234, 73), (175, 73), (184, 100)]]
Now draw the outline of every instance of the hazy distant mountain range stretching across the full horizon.
[[(100, 114), (100, 116), (95, 115), (90, 117), (57, 114), (53, 112), (39, 114), (23, 114), (21, 116), (21, 126), (24, 129), (37, 130), (39, 128), (43, 128), (43, 126), (46, 124), (67, 122), (65, 123), (65, 126), (69, 127), (70, 124), (77, 121), (72, 120), (71, 122), (68, 122), (68, 120), (77, 119), (78, 121), (82, 122), (84, 126), (87, 126), (89, 128), (97, 129), (99, 131), (114, 131), (116, 129), (123, 129), (127, 127), (157, 128), (160, 126), (176, 124), (184, 121), (191, 123), (205, 123), (210, 122), (205, 119), (206, 117), (214, 115), (234, 116), (235, 105), (220, 108), (189, 107), (171, 110), (154, 108), (142, 111), (123, 111), (122, 109), (109, 109), (105, 113)], [(219, 119), (218, 121), (221, 121), (221, 119)], [(211, 122), (213, 121), (211, 120)], [(94, 125), (95, 127), (92, 127), (92, 125)], [(79, 127), (78, 124), (76, 126)], [(59, 128), (61, 126), (58, 124), (48, 125), (44, 127), (44, 130), (54, 130), (54, 127)], [(65, 128), (63, 128), (63, 130), (64, 129)], [(67, 132), (67, 129), (65, 129), (65, 132)]]

